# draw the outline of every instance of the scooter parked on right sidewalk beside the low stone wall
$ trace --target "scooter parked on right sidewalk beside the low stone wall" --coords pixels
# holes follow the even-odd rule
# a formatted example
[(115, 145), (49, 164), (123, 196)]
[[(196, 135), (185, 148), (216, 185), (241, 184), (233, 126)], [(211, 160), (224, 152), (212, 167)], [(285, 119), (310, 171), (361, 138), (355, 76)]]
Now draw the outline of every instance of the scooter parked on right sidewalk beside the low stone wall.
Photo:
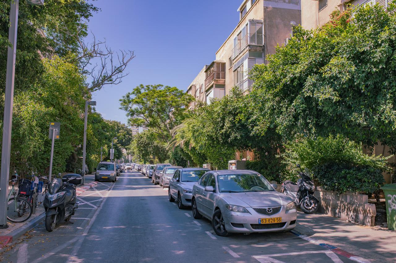
[(319, 208), (319, 200), (314, 197), (315, 186), (308, 173), (303, 172), (301, 166), (297, 164), (301, 172), (301, 178), (295, 182), (286, 180), (282, 184), (281, 193), (284, 193), (294, 200), (296, 206), (300, 206), (306, 214), (313, 214)]

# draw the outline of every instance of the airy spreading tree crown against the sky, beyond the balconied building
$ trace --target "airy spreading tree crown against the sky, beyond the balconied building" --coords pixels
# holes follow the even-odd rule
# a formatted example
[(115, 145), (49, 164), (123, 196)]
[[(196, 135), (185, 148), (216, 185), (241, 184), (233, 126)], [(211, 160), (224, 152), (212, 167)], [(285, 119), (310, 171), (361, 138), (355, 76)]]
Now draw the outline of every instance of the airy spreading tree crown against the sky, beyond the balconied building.
[(130, 125), (145, 126), (167, 143), (171, 130), (187, 116), (192, 96), (176, 87), (140, 85), (120, 99)]

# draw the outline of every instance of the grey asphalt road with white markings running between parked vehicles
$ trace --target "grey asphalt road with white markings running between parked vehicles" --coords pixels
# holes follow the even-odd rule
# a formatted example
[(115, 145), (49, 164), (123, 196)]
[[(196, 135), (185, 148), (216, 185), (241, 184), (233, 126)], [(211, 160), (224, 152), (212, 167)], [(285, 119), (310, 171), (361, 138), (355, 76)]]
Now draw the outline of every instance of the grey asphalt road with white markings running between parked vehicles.
[[(92, 177), (92, 178), (90, 178)], [(87, 182), (93, 176), (87, 176)], [(168, 201), (167, 188), (140, 172), (102, 182), (79, 196), (74, 224), (30, 237), (3, 252), (5, 262), (353, 262), (293, 233), (219, 237), (206, 219)], [(297, 219), (298, 221), (298, 219)]]

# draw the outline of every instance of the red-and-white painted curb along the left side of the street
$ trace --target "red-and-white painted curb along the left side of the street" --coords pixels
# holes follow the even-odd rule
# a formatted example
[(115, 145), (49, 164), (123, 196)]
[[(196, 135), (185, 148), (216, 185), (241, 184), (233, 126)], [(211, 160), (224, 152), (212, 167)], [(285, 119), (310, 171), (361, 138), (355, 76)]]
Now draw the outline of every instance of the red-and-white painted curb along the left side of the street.
[[(77, 188), (76, 195), (80, 195), (80, 194), (84, 193), (86, 190), (88, 190), (89, 188), (95, 187), (96, 184), (97, 184), (97, 182), (93, 181), (93, 182), (90, 182), (89, 184), (84, 185), (84, 187)], [(0, 252), (2, 251), (2, 249), (5, 246), (8, 246), (9, 244), (11, 244), (13, 240), (17, 240), (19, 237), (24, 235), (27, 231), (31, 230), (36, 225), (40, 224), (44, 220), (45, 217), (46, 217), (46, 213), (44, 212), (44, 213), (36, 216), (36, 218), (34, 218), (29, 223), (15, 229), (10, 234), (8, 234), (6, 236), (0, 236)]]

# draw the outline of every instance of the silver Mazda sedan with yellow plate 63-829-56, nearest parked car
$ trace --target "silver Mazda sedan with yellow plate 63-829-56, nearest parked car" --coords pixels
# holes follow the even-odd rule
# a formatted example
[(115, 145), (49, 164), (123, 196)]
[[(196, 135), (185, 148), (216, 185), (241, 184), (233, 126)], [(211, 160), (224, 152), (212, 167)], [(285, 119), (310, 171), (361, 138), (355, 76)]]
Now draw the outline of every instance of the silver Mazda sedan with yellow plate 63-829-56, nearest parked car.
[(276, 188), (255, 171), (208, 171), (192, 187), (192, 214), (211, 220), (215, 233), (223, 237), (289, 231), (296, 226), (297, 210)]

